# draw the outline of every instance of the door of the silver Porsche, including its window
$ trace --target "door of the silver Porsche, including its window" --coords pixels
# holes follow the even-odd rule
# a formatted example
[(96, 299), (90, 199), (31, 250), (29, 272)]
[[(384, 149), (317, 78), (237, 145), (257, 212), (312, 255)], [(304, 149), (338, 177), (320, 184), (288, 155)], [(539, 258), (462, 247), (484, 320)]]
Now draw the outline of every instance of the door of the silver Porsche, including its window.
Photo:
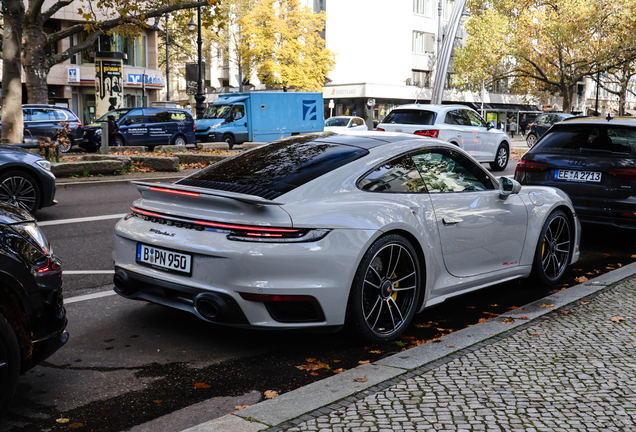
[(471, 277), (519, 265), (528, 214), (518, 195), (500, 198), (487, 172), (459, 151), (434, 148), (413, 160), (431, 197), (450, 274)]

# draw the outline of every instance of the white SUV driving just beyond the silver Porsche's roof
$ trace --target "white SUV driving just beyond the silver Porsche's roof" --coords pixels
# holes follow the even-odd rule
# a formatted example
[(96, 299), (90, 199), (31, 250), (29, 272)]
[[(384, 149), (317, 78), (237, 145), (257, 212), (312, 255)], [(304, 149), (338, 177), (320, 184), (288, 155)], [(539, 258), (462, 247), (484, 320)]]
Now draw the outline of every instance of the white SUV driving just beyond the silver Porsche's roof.
[(493, 171), (503, 171), (510, 158), (510, 139), (465, 105), (402, 105), (378, 124), (378, 131), (439, 138), (466, 150)]

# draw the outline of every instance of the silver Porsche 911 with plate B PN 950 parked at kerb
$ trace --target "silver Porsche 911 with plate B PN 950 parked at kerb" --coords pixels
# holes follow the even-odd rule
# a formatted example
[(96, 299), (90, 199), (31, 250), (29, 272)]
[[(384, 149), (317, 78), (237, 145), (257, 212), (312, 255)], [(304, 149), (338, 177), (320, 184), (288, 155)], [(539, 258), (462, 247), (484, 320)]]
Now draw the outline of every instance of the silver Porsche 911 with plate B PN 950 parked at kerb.
[(137, 182), (115, 289), (231, 326), (396, 339), (417, 312), (579, 258), (566, 194), (494, 178), (441, 140), (358, 132), (272, 142), (174, 184)]

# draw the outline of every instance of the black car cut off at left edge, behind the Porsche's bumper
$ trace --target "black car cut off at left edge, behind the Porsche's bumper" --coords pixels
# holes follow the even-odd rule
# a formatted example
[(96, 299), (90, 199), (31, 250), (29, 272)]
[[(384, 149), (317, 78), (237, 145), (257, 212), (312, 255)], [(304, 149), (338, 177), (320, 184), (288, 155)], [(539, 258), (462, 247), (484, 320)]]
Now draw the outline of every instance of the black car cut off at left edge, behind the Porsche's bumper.
[(0, 203), (0, 417), (21, 373), (68, 340), (62, 267), (29, 213)]

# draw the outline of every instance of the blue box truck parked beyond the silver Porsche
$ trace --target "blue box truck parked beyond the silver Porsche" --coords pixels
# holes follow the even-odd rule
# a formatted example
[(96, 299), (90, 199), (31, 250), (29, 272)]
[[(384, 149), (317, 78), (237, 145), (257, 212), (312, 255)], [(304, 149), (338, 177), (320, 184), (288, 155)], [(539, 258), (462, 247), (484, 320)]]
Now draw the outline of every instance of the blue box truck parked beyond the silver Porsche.
[(195, 122), (197, 142), (270, 142), (324, 130), (322, 93), (226, 93)]

